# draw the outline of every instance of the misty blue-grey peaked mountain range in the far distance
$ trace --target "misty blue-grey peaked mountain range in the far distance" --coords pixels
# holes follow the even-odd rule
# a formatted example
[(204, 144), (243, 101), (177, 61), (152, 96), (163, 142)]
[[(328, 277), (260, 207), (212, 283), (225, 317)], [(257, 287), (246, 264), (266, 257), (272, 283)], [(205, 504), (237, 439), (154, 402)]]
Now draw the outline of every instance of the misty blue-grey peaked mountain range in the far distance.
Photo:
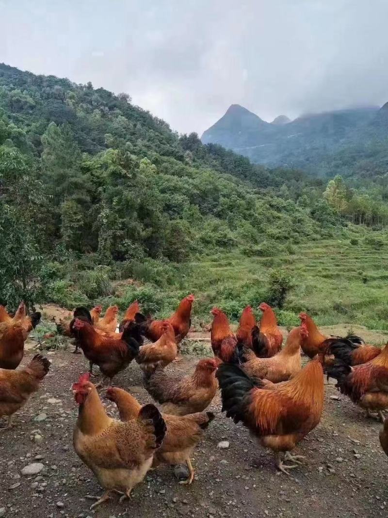
[(388, 170), (388, 103), (324, 113), (286, 116), (272, 123), (232, 105), (202, 135), (271, 167), (299, 167), (316, 175), (367, 176)]

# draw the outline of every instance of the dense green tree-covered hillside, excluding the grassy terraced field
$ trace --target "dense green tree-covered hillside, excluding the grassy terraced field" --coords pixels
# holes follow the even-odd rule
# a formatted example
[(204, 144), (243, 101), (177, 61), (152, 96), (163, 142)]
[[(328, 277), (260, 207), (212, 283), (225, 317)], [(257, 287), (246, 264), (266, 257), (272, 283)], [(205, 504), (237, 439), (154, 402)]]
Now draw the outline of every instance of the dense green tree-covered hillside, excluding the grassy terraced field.
[[(130, 278), (147, 285), (127, 299), (158, 311), (191, 289), (198, 258), (292, 254), (354, 239), (347, 220), (386, 225), (381, 192), (375, 212), (364, 199), (353, 217), (349, 201), (364, 194), (333, 182), (180, 136), (127, 94), (0, 65), (0, 298), (10, 308), (21, 298), (87, 304)], [(156, 300), (148, 285), (175, 291)]]

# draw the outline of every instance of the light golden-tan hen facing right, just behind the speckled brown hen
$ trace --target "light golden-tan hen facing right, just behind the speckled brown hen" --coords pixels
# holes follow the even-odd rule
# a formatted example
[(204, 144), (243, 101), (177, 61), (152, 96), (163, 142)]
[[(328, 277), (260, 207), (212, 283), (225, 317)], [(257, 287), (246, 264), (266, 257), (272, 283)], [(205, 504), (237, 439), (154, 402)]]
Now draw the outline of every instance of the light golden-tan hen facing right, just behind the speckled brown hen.
[(163, 334), (159, 340), (145, 344), (136, 357), (143, 372), (153, 372), (158, 366), (166, 367), (176, 356), (177, 346), (172, 325), (166, 321), (161, 329)]

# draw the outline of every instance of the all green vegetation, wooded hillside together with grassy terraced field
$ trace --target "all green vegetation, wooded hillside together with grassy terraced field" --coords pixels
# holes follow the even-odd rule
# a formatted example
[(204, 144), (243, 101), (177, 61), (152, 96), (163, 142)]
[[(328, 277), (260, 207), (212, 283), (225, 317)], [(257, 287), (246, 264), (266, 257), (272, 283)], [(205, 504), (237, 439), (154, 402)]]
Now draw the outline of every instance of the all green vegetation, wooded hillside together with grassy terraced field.
[(125, 94), (0, 65), (0, 302), (137, 298), (163, 316), (193, 292), (197, 324), (266, 300), (286, 325), (308, 309), (384, 327), (385, 195), (360, 218), (362, 186), (333, 182), (177, 135)]

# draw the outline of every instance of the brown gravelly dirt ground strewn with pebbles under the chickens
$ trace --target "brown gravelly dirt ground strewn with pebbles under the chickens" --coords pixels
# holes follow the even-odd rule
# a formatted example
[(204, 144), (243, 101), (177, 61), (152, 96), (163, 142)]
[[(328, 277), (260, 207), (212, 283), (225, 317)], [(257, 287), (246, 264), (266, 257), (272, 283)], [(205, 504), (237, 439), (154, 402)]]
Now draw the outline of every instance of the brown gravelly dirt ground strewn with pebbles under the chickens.
[[(379, 342), (379, 337), (373, 338)], [(184, 361), (167, 369), (191, 371), (198, 357), (186, 355), (187, 350), (189, 342), (183, 347)], [(217, 394), (209, 408), (216, 413), (216, 419), (193, 455), (196, 478), (190, 486), (179, 485), (173, 469), (162, 466), (150, 471), (145, 481), (135, 487), (131, 501), (120, 505), (118, 497), (114, 497), (89, 511), (93, 502), (85, 496), (100, 495), (102, 490), (72, 448), (77, 405), (70, 389), (86, 371), (87, 362), (83, 355), (71, 351), (72, 347), (47, 353), (52, 365), (40, 391), (14, 416), (15, 426), (0, 432), (0, 516), (387, 515), (388, 458), (378, 439), (381, 425), (365, 419), (362, 410), (332, 384), (326, 386), (321, 423), (295, 449), (306, 459), (303, 466), (292, 470), (291, 477), (276, 471), (272, 453), (259, 447), (242, 425), (235, 425), (220, 413)], [(26, 352), (23, 364), (33, 353)], [(142, 387), (136, 363), (121, 372), (115, 384), (142, 403), (152, 401)], [(104, 402), (109, 413), (117, 415), (114, 405)], [(39, 422), (37, 417), (42, 413), (47, 418)], [(229, 441), (229, 448), (218, 448), (220, 441)], [(21, 470), (34, 462), (42, 463), (44, 469), (37, 476), (23, 476)]]

